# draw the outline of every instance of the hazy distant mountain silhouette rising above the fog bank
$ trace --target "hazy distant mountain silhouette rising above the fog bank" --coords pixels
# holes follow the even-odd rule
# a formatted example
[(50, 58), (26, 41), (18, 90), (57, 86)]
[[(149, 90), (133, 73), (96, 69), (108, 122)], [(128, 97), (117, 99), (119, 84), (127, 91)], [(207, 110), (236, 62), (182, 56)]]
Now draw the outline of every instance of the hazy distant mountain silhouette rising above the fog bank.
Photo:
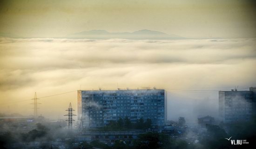
[(91, 30), (67, 35), (70, 39), (185, 39), (177, 35), (164, 32), (140, 30), (135, 32), (107, 32), (105, 30)]

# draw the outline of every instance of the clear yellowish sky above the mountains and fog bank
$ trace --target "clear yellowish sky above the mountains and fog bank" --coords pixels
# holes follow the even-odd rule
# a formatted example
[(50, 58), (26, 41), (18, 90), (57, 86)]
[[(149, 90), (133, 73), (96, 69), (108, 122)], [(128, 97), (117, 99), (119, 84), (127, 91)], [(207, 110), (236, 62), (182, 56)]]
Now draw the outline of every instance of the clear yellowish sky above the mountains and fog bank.
[(142, 29), (186, 38), (255, 38), (253, 0), (1, 0), (0, 32), (56, 38)]

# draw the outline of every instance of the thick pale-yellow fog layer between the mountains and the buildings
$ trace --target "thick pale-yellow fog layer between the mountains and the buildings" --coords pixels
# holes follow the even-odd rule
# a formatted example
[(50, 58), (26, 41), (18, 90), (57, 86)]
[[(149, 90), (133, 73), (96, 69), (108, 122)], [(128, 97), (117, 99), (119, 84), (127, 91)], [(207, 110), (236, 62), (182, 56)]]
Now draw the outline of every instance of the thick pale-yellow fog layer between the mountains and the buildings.
[[(189, 112), (197, 115), (201, 111), (182, 103), (209, 100), (217, 104), (218, 93), (172, 89), (255, 85), (255, 65), (256, 39), (1, 38), (1, 112), (32, 114), (29, 101), (19, 101), (33, 98), (34, 91), (44, 97), (79, 90), (80, 86), (84, 90), (156, 86), (168, 89), (169, 119)], [(76, 92), (40, 99), (39, 113), (62, 118), (69, 102), (76, 109), (76, 99)], [(207, 106), (214, 106), (209, 107), (211, 111), (217, 109), (217, 105)]]

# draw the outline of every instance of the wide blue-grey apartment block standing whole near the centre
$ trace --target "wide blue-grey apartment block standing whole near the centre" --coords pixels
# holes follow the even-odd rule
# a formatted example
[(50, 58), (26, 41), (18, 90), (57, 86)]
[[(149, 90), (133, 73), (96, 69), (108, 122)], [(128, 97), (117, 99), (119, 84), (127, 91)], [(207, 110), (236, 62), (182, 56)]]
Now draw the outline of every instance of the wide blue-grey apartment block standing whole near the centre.
[(77, 94), (78, 117), (84, 127), (101, 127), (119, 117), (128, 117), (132, 123), (150, 118), (153, 125), (162, 126), (167, 118), (164, 90), (79, 90)]

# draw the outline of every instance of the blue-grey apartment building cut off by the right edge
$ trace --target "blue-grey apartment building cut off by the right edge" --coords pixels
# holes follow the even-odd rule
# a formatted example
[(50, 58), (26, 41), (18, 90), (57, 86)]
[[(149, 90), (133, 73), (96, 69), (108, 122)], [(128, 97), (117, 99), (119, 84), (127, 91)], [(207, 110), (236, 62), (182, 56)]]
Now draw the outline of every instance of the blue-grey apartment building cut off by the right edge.
[(249, 91), (219, 91), (219, 114), (224, 122), (248, 121), (255, 111), (255, 87)]

